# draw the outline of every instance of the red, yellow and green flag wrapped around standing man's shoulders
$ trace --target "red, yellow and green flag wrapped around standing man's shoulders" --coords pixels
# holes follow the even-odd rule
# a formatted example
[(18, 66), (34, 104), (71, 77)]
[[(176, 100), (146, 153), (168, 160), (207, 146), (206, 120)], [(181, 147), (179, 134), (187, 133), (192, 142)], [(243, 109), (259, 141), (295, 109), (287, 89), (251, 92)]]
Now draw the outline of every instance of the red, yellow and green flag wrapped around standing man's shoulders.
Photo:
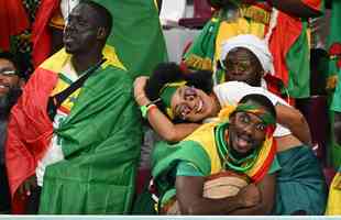
[(107, 62), (87, 79), (57, 130), (46, 103), (69, 59), (64, 50), (36, 69), (13, 108), (7, 146), (12, 195), (34, 174), (52, 131), (62, 139), (65, 160), (46, 167), (40, 213), (125, 213), (131, 207), (142, 129), (132, 78), (112, 52), (103, 50)]

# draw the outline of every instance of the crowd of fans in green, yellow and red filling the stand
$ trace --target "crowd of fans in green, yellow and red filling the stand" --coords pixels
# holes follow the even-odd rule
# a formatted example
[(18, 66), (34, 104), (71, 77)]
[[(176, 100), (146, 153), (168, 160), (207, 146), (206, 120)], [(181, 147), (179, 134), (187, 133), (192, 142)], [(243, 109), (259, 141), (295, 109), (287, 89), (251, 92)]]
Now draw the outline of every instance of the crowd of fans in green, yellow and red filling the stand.
[(162, 1), (42, 0), (34, 72), (0, 53), (1, 213), (341, 215), (341, 175), (326, 182), (295, 108), (323, 1), (208, 3), (211, 20), (170, 63)]

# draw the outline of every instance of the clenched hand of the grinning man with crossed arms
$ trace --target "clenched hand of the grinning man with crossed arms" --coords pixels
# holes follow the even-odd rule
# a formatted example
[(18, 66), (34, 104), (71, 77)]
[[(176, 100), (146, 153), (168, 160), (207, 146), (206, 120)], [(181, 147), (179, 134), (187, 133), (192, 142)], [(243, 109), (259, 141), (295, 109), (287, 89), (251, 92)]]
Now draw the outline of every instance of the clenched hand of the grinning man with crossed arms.
[(253, 207), (261, 202), (261, 191), (255, 184), (250, 184), (242, 188), (237, 195), (241, 199), (241, 204), (246, 207)]

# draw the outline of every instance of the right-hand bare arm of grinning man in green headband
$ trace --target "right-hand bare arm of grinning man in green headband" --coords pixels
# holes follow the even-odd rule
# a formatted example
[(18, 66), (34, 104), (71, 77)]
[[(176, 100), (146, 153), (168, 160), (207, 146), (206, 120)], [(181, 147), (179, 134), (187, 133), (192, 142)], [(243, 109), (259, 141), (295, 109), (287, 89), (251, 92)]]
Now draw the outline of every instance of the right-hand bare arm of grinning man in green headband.
[(230, 215), (248, 216), (248, 215), (268, 215), (275, 204), (276, 176), (266, 175), (263, 180), (257, 184), (261, 191), (261, 202), (250, 208), (237, 209)]

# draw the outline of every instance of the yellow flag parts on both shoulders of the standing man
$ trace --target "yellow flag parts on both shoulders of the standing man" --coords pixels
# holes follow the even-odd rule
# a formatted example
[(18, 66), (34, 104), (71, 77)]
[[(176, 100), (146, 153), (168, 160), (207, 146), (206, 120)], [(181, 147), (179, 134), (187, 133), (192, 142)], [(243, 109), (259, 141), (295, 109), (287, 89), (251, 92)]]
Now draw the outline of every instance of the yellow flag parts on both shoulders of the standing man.
[[(112, 46), (106, 45), (102, 51), (103, 57), (107, 61), (101, 65), (102, 68), (106, 68), (108, 65), (116, 66), (118, 68), (124, 69), (125, 67), (119, 59), (114, 48)], [(46, 59), (41, 64), (40, 68), (44, 68), (54, 73), (61, 73), (65, 64), (70, 59), (72, 55), (65, 52), (65, 48), (62, 48), (59, 52), (52, 55), (51, 58)]]

